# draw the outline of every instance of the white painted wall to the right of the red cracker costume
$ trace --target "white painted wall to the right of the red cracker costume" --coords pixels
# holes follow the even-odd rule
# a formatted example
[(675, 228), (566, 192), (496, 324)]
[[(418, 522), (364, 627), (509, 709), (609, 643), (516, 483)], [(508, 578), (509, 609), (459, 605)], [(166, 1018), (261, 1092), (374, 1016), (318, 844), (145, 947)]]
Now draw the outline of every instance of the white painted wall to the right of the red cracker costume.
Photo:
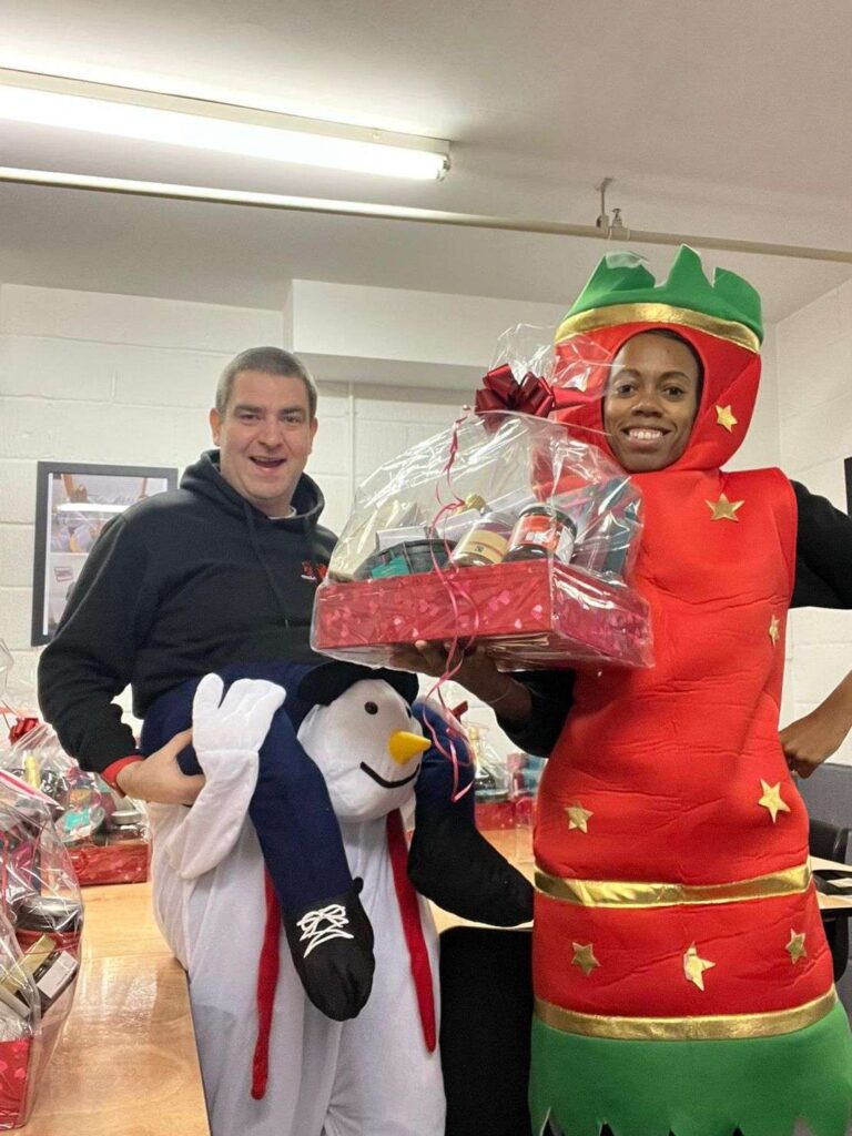
[[(782, 468), (845, 510), (852, 457), (852, 281), (777, 325)], [(791, 613), (786, 717), (810, 712), (852, 669), (852, 612)], [(852, 737), (834, 759), (852, 765)]]

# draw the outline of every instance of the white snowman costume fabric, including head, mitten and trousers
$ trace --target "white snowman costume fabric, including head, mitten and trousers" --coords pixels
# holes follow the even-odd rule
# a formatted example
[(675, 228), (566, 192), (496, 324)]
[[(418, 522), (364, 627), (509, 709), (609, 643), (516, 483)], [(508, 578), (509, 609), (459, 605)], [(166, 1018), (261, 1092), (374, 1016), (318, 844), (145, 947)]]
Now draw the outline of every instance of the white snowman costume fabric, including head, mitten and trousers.
[[(395, 691), (368, 679), (315, 707), (299, 730), (328, 783), (352, 876), (364, 879), (376, 970), (360, 1014), (332, 1021), (304, 996), (282, 929), (269, 1080), (254, 1101), (266, 903), (247, 809), (258, 749), (283, 692), (241, 679), (222, 707), (220, 695), (220, 679), (208, 676), (195, 696), (193, 744), (206, 776), (195, 803), (151, 807), (154, 912), (189, 972), (214, 1136), (443, 1136), (440, 1053), (424, 1042), (385, 837), (387, 812), (410, 801), (419, 770), (419, 757), (400, 766), (389, 740), (419, 726)], [(437, 935), (426, 901), (419, 903), (437, 1008)]]

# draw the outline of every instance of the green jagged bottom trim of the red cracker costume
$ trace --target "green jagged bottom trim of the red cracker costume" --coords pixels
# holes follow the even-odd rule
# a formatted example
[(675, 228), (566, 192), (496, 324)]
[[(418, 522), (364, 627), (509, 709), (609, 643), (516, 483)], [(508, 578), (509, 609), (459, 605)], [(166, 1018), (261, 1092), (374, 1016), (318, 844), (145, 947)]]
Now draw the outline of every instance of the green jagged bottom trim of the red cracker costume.
[(533, 1020), (529, 1108), (565, 1136), (846, 1136), (852, 1121), (852, 1035), (838, 1003), (821, 1021), (778, 1037), (735, 1042), (621, 1042), (580, 1037)]

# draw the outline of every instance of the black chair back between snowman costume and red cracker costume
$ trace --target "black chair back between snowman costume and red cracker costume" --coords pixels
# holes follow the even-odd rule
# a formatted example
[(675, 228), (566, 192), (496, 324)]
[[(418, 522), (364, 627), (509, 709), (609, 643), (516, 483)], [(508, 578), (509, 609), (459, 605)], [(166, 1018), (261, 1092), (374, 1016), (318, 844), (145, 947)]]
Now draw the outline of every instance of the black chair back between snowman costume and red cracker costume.
[(446, 1136), (531, 1134), (532, 938), (492, 927), (441, 935)]

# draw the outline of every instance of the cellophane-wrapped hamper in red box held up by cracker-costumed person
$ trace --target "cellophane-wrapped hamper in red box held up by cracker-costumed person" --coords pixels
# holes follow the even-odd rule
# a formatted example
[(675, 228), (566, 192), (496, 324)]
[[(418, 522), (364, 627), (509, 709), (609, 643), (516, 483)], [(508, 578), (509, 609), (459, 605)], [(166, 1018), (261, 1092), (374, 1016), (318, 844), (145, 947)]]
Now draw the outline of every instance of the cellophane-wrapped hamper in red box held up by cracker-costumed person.
[(640, 532), (640, 494), (599, 449), (544, 418), (471, 414), (361, 486), (312, 645), (370, 666), (416, 640), (477, 642), (504, 670), (650, 666)]

